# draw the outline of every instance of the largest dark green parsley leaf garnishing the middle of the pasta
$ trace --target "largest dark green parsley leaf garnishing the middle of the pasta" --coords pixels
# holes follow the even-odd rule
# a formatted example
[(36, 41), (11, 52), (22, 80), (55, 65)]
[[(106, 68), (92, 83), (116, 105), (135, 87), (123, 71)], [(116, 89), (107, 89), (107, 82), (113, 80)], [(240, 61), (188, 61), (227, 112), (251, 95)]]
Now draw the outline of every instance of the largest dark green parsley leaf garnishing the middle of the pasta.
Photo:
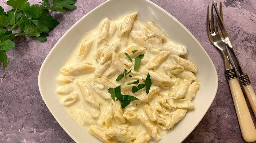
[(121, 86), (118, 86), (116, 88), (109, 88), (108, 92), (111, 94), (111, 97), (114, 101), (115, 101), (115, 97), (117, 97), (117, 100), (120, 101), (122, 108), (125, 108), (134, 100), (139, 100), (134, 96), (121, 94)]

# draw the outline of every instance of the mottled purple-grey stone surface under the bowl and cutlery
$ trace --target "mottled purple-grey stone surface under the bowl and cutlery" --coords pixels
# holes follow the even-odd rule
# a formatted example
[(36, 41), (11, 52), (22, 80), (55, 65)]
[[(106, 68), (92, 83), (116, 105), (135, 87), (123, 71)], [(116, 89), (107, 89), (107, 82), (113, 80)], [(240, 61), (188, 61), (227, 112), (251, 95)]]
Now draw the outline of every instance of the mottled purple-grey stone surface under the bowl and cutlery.
[[(0, 0), (5, 10), (11, 7)], [(74, 141), (60, 127), (43, 102), (37, 84), (38, 72), (45, 57), (60, 37), (82, 16), (105, 0), (77, 0), (75, 10), (50, 12), (60, 24), (49, 33), (46, 42), (20, 36), (9, 52), (8, 66), (0, 64), (0, 142), (1, 143), (69, 143)], [(244, 142), (233, 100), (224, 75), (221, 53), (206, 35), (206, 8), (212, 0), (152, 0), (177, 18), (201, 43), (219, 74), (215, 100), (195, 130), (184, 143)], [(29, 0), (39, 4), (40, 0)], [(219, 0), (218, 0), (219, 2)], [(256, 91), (256, 1), (222, 1), (224, 23), (237, 54)], [(207, 96), (207, 95), (205, 95)], [(245, 97), (254, 123), (255, 116)], [(171, 141), (170, 141), (171, 142)]]

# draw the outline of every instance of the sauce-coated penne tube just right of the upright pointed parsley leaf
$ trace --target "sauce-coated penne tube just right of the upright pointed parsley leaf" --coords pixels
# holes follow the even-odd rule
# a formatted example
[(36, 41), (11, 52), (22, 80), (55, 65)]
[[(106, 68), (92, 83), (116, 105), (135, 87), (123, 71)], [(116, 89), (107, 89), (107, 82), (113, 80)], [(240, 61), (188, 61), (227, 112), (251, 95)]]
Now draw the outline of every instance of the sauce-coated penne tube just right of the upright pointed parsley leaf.
[(156, 71), (151, 70), (144, 70), (142, 73), (147, 74), (149, 73), (150, 79), (153, 80), (155, 83), (162, 87), (166, 86), (173, 86), (175, 83), (170, 79), (170, 77), (166, 74), (160, 74)]

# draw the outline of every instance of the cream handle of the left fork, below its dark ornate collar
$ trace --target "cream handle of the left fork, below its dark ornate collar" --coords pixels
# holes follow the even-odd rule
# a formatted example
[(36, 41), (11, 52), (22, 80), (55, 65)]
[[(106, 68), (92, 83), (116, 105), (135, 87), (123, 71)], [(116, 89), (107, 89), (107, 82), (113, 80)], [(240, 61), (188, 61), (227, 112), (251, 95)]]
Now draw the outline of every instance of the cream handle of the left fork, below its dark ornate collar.
[(228, 83), (243, 138), (246, 142), (254, 142), (256, 140), (256, 129), (245, 102), (245, 97), (240, 87), (238, 78), (230, 79), (228, 80)]

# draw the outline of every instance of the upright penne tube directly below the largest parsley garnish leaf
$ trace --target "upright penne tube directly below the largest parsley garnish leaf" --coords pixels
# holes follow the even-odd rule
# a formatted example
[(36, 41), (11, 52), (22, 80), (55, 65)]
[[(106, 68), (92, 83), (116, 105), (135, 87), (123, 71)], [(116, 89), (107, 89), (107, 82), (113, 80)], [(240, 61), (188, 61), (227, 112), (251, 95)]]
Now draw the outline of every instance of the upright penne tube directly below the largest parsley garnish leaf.
[(117, 122), (120, 123), (125, 123), (125, 119), (123, 117), (123, 110), (121, 107), (120, 101), (113, 101), (111, 100), (111, 106), (114, 114), (114, 118), (116, 119)]

